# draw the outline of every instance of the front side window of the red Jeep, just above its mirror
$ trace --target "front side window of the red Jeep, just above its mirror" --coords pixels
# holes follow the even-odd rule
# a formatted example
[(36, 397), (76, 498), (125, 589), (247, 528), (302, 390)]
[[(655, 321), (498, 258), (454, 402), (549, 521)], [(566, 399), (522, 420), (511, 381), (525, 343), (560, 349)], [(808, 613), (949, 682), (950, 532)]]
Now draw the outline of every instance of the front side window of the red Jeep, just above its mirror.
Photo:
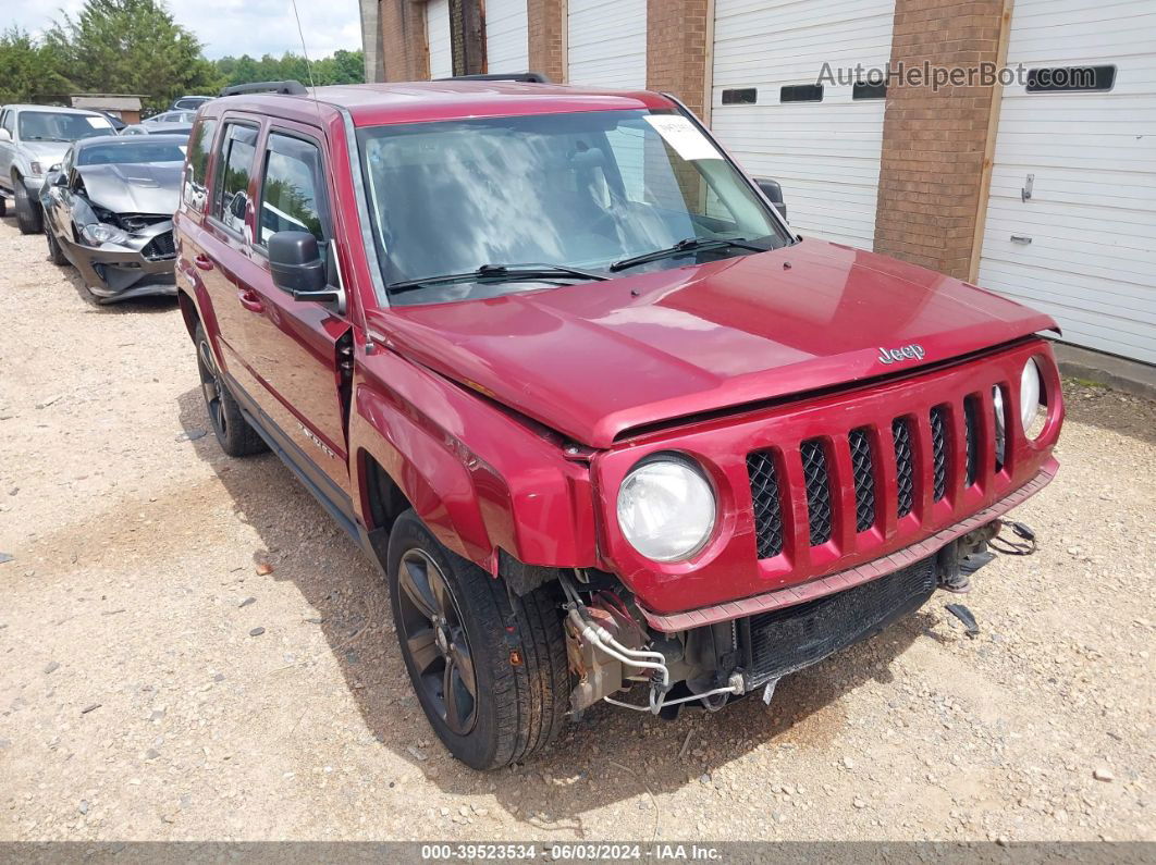
[[(321, 151), (317, 144), (269, 134), (258, 224), (261, 246), (279, 231), (307, 231), (318, 244), (333, 237)], [(325, 255), (324, 247), (321, 255)]]

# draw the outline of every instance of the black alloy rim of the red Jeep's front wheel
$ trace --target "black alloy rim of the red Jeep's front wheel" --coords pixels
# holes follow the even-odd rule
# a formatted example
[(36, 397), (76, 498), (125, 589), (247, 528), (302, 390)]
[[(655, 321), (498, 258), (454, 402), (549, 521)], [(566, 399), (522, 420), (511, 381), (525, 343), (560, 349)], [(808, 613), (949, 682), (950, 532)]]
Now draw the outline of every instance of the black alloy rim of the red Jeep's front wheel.
[(417, 547), (401, 557), (398, 584), (401, 647), (418, 687), (445, 725), (467, 736), (477, 722), (477, 677), (453, 590), (437, 562)]

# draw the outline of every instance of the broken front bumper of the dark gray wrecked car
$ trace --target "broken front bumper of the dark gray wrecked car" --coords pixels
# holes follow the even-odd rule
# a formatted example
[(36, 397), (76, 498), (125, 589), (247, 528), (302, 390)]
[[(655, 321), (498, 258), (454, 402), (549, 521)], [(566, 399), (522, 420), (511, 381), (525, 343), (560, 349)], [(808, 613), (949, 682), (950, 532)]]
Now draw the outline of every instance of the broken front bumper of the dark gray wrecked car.
[(101, 303), (177, 293), (171, 222), (149, 225), (124, 244), (88, 246), (71, 238), (59, 238), (59, 243)]

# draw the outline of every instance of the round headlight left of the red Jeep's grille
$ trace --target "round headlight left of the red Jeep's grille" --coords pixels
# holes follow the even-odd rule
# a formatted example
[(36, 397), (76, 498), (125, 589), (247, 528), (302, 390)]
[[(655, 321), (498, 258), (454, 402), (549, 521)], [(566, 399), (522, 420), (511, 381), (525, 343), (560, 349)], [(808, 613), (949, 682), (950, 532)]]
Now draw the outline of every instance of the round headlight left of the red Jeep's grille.
[(618, 525), (654, 561), (688, 559), (714, 529), (714, 492), (702, 470), (677, 456), (636, 467), (618, 489)]

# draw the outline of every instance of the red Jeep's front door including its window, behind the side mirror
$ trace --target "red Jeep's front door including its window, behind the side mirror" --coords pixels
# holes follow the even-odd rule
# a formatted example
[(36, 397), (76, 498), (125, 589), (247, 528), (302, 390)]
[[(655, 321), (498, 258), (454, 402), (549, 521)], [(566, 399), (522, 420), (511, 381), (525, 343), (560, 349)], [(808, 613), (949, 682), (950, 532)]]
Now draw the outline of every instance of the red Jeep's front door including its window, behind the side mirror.
[[(334, 200), (325, 170), (320, 131), (272, 121), (261, 142), (254, 178), (253, 234), (246, 266), (235, 274), (244, 310), (237, 353), (251, 376), (251, 396), (288, 439), (297, 462), (320, 469), (311, 479), (348, 509), (349, 470), (339, 341), (343, 315), (317, 301), (294, 300), (273, 284), (267, 245), (279, 231), (309, 231), (324, 259), (332, 255)], [(297, 453), (295, 453), (295, 450)]]

